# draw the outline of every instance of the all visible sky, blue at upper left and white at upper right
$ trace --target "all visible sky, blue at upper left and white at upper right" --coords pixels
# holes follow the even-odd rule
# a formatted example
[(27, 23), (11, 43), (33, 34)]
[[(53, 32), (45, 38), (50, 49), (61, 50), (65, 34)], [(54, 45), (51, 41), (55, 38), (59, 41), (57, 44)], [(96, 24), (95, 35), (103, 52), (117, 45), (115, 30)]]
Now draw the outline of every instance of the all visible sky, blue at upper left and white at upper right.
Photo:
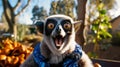
[[(17, 0), (9, 0), (9, 1), (11, 2), (12, 6), (14, 6), (17, 2)], [(32, 0), (32, 3), (28, 6), (26, 11), (20, 15), (19, 22), (21, 22), (22, 24), (32, 24), (33, 23), (31, 20), (32, 8), (35, 5), (39, 5), (39, 7), (43, 6), (47, 10), (47, 13), (49, 13), (50, 3), (52, 1), (53, 0), (44, 0), (44, 1), (43, 0)], [(27, 0), (23, 0), (22, 2), (23, 2), (22, 6), (24, 6), (26, 4)], [(0, 19), (1, 19), (2, 12), (3, 12), (3, 7), (1, 5), (2, 5), (2, 0), (0, 0)], [(118, 15), (120, 15), (120, 0), (116, 0), (114, 9), (111, 9), (108, 12), (112, 16), (112, 18), (115, 18)]]

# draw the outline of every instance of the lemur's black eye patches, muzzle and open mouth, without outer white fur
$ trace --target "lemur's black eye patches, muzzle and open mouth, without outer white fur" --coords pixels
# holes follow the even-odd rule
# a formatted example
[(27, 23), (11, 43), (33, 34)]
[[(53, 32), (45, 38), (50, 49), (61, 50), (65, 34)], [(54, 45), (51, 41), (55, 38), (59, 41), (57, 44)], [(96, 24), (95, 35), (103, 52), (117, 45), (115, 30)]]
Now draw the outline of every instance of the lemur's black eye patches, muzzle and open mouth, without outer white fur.
[(54, 45), (59, 49), (65, 41), (65, 38), (69, 37), (72, 33), (72, 23), (69, 19), (63, 19), (60, 17), (49, 18), (45, 25), (45, 35), (51, 36)]

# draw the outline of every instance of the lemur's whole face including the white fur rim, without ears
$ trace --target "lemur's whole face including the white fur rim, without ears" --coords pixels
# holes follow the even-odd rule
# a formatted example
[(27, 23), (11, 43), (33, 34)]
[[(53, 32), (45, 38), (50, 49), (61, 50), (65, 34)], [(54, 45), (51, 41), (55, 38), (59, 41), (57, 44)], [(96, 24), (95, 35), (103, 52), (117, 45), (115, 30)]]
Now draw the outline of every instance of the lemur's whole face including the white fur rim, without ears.
[(53, 53), (64, 53), (74, 41), (73, 20), (65, 15), (53, 15), (46, 19), (44, 40)]

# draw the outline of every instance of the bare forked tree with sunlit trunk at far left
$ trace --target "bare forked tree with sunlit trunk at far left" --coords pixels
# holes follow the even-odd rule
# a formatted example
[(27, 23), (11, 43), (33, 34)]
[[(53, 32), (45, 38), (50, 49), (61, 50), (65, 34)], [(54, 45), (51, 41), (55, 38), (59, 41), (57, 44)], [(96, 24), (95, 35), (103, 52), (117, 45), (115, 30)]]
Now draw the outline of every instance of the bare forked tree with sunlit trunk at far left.
[(11, 34), (14, 34), (15, 40), (17, 39), (17, 19), (16, 18), (25, 11), (27, 6), (30, 4), (31, 0), (28, 0), (27, 4), (21, 9), (21, 11), (18, 11), (18, 13), (15, 14), (16, 9), (21, 7), (21, 1), (22, 0), (18, 0), (16, 5), (12, 7), (12, 5), (8, 0), (2, 0), (5, 19), (9, 26), (8, 32)]

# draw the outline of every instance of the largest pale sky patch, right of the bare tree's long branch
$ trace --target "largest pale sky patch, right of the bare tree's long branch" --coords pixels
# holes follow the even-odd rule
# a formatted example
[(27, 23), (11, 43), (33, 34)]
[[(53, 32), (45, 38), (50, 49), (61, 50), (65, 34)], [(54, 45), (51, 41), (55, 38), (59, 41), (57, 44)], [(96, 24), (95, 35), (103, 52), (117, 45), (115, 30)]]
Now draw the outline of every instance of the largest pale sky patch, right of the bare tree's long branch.
[(26, 11), (20, 16), (20, 22), (23, 24), (32, 24), (32, 9), (35, 5), (38, 5), (39, 7), (44, 7), (47, 10), (47, 13), (49, 13), (50, 3), (52, 0), (34, 0), (34, 4), (30, 4), (30, 8), (26, 9)]

